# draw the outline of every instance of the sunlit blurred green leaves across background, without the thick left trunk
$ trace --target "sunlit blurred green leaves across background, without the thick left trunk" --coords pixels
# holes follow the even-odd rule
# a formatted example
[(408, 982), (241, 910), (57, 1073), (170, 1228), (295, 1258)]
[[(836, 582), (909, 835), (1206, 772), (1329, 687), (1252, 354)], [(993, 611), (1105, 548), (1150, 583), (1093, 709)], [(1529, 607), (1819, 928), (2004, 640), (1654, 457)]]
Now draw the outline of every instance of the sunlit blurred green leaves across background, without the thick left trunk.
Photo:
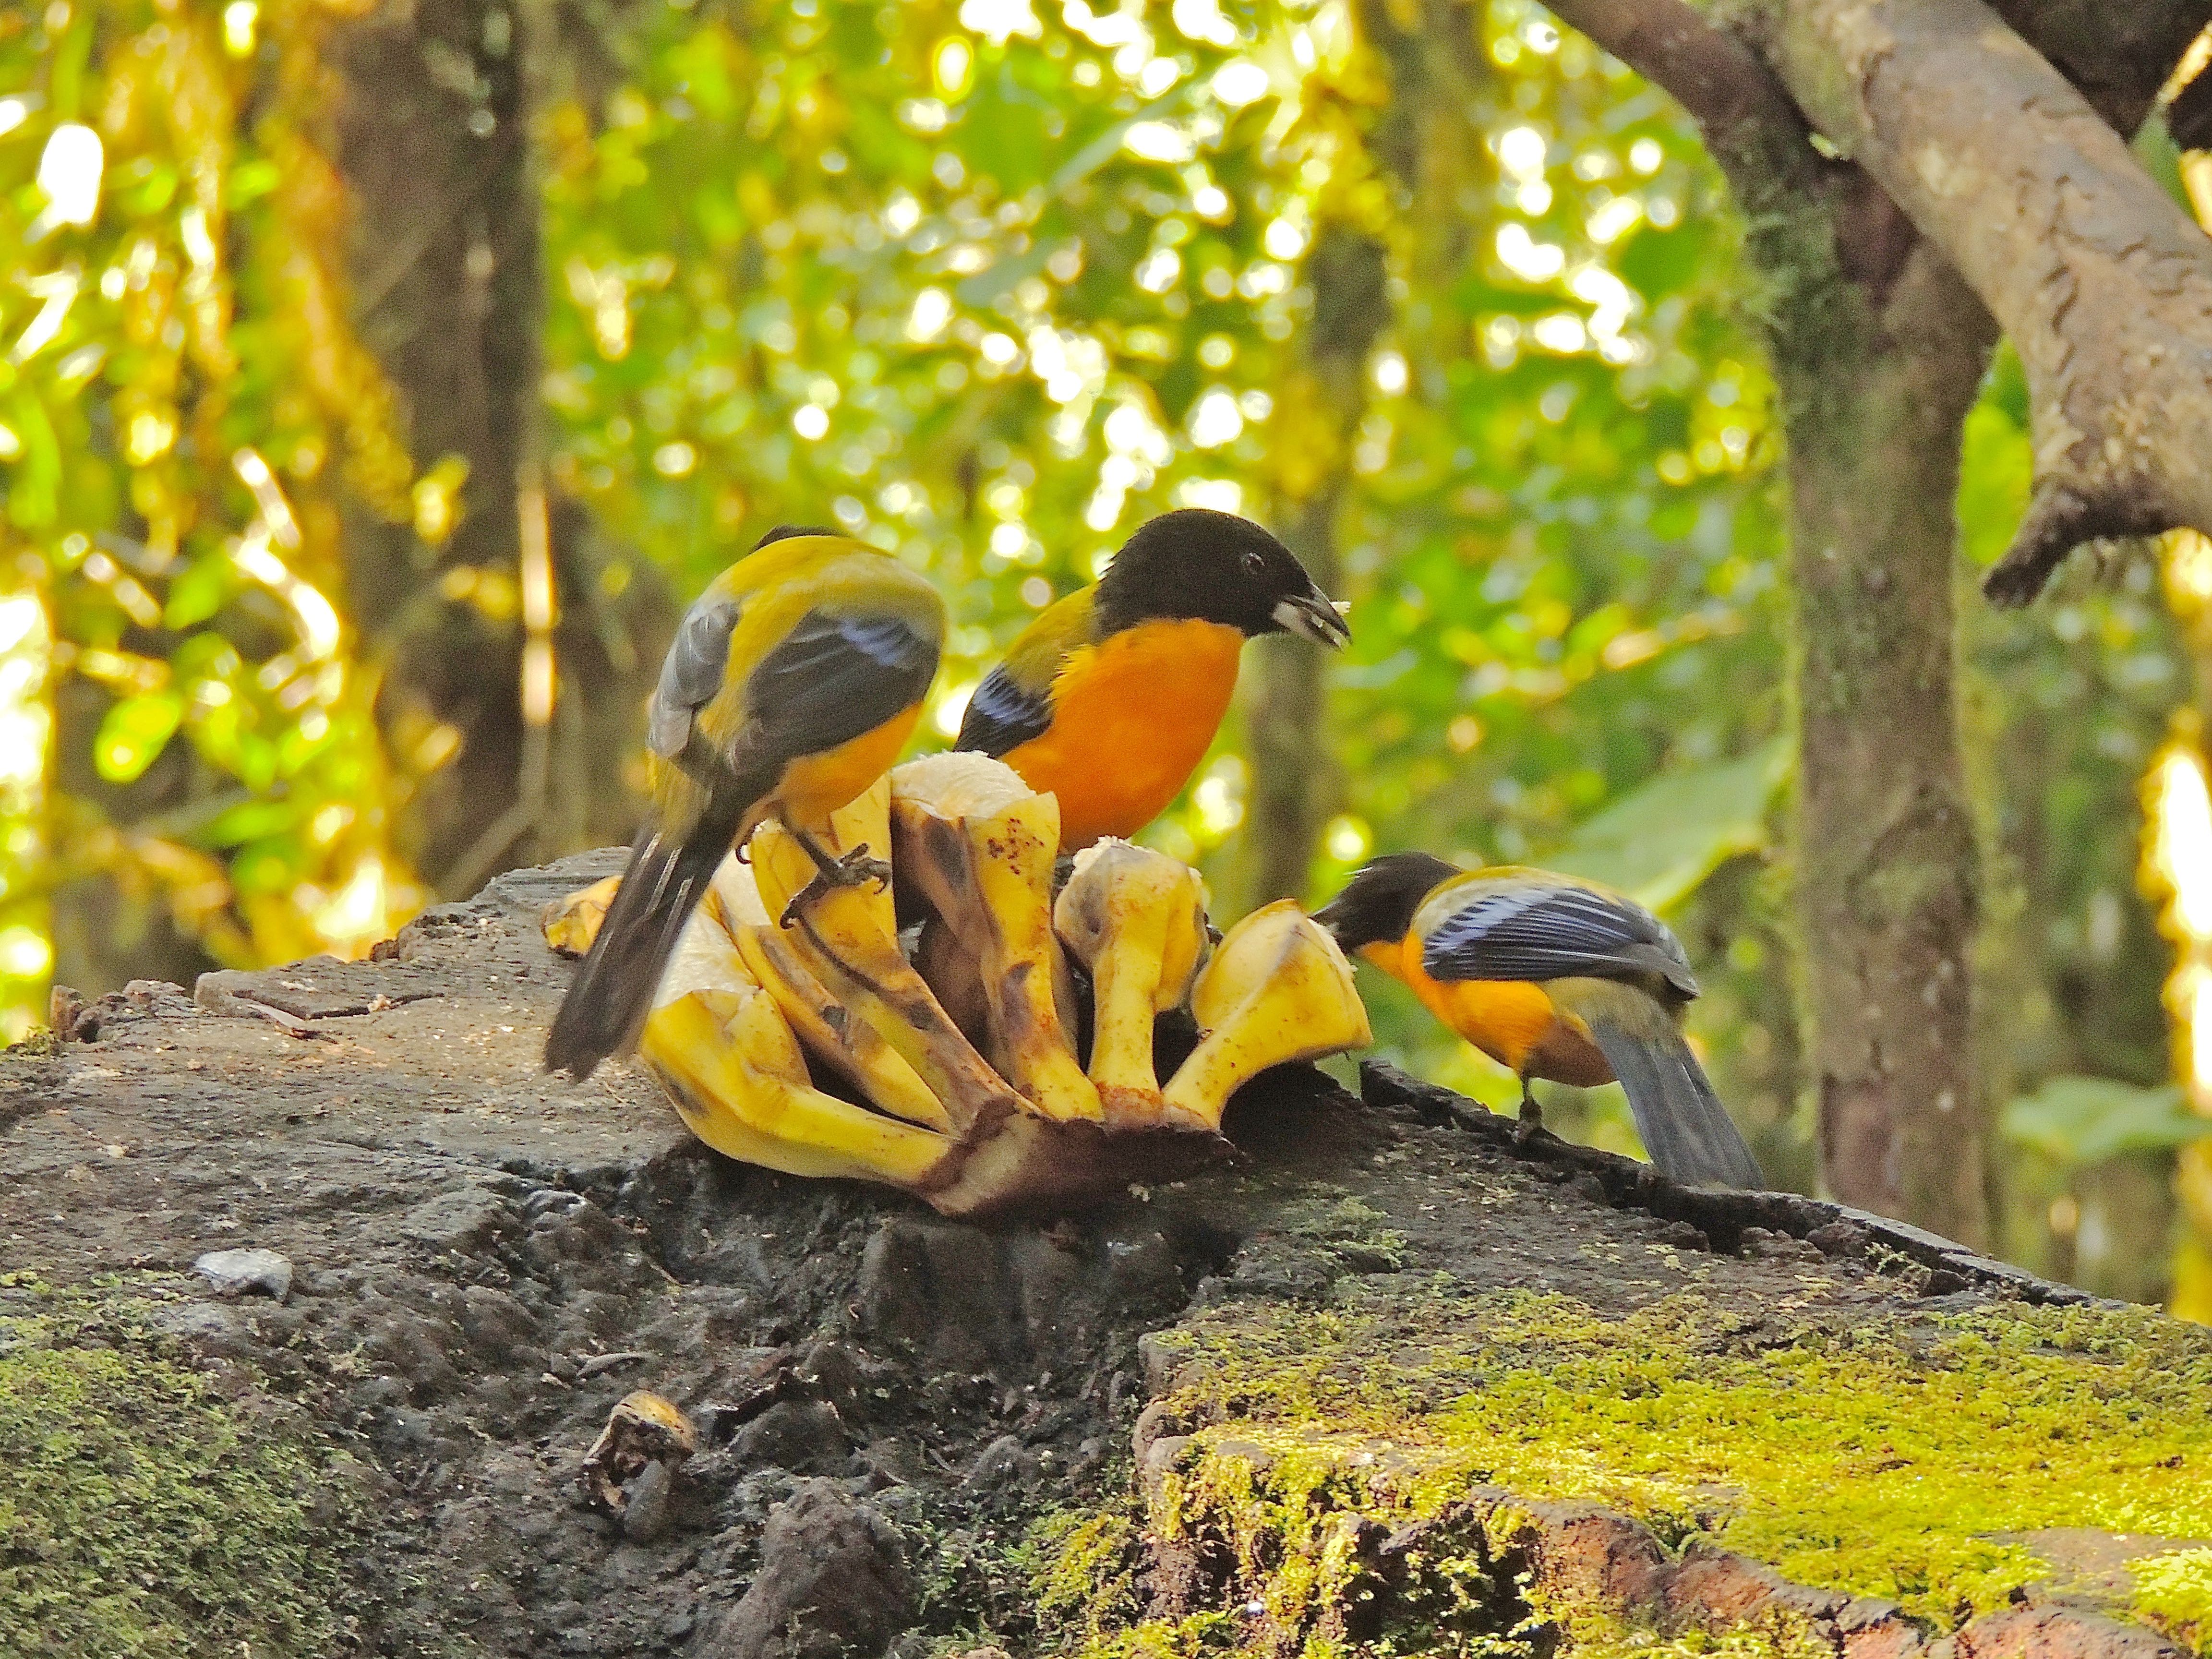
[[(549, 476), (628, 549), (608, 593), (639, 566), (690, 593), (776, 522), (896, 546), (958, 624), (936, 743), (1146, 515), (1272, 518), (1334, 478), (1354, 646), (1312, 739), (1343, 779), (1314, 894), (1416, 845), (1641, 891), (1705, 980), (1692, 1035), (1721, 1093), (1770, 1172), (1809, 1186), (1792, 960), (1827, 942), (1794, 940), (1785, 902), (1778, 434), (1739, 223), (1663, 95), (1528, 0), (613, 18), (611, 88), (535, 111)], [(409, 476), (345, 327), (310, 119), (334, 27), (310, 0), (0, 20), (0, 586), (38, 599), (0, 595), (0, 721), (84, 710), (42, 765), (0, 768), (18, 1029), (58, 880), (135, 883), (221, 960), (352, 947), (356, 911), (411, 902), (387, 825), (449, 745), (369, 719), (338, 504), (436, 544), (460, 480)], [(150, 75), (190, 95), (148, 97)], [(97, 215), (42, 226), (71, 122), (104, 144)], [(1358, 409), (1305, 372), (1338, 234), (1387, 265)], [(1975, 568), (2026, 495), (2017, 365), (1966, 440)], [(2188, 659), (2152, 577), (2117, 560), (2031, 615), (1969, 608), (1997, 1099), (2166, 1077), (2135, 790)], [(1243, 754), (1232, 721), (1150, 832), (1223, 896), (1252, 834)], [(1385, 1053), (1511, 1099), (1396, 987), (1365, 989)], [(1553, 1121), (1630, 1144), (1610, 1091), (1568, 1091)], [(2110, 1150), (2031, 1139), (2000, 1170), (2006, 1245), (2079, 1267), (2057, 1199)]]

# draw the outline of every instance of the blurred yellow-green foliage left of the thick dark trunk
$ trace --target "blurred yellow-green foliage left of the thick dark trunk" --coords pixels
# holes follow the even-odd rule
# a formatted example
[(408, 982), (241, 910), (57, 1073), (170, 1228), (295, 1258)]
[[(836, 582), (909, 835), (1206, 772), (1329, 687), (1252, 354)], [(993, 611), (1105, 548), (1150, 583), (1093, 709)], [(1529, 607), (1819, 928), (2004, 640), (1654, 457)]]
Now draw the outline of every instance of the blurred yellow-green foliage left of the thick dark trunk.
[[(0, 15), (0, 1011), (106, 880), (221, 962), (411, 898), (341, 502), (407, 456), (345, 321), (310, 0)], [(55, 734), (55, 721), (60, 732)]]

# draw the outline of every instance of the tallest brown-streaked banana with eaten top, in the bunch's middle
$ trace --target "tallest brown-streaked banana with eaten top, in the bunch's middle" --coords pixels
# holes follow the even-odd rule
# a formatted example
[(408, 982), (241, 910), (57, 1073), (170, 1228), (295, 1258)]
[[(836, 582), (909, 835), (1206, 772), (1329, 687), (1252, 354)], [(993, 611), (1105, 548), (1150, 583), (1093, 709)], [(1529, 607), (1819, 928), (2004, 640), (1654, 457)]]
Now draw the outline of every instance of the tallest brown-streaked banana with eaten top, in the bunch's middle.
[(1075, 1060), (1055, 982), (1060, 801), (984, 754), (931, 754), (891, 772), (891, 860), (975, 960), (987, 1055), (1060, 1124), (1104, 1117)]

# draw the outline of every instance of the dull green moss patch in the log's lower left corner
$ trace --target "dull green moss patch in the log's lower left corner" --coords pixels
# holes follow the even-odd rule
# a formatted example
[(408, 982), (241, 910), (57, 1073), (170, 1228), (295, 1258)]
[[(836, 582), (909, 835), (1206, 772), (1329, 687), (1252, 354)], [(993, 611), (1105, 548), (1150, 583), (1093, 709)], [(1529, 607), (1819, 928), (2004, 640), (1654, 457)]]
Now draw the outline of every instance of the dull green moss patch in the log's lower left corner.
[(0, 1290), (0, 1652), (338, 1650), (343, 1469), (217, 1398), (131, 1305)]

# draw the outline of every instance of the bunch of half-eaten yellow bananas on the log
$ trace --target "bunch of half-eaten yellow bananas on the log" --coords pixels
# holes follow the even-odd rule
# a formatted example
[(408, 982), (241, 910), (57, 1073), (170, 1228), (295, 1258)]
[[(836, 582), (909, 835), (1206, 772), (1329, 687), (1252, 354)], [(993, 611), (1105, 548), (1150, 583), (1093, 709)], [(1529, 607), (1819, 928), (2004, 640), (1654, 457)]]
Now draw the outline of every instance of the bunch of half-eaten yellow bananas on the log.
[[(1060, 869), (1057, 799), (1002, 761), (894, 768), (832, 818), (827, 849), (860, 847), (889, 849), (891, 887), (821, 889), (761, 825), (659, 982), (639, 1060), (730, 1157), (945, 1214), (1097, 1197), (1219, 1157), (1261, 1071), (1371, 1040), (1352, 967), (1294, 902), (1214, 936), (1206, 883), (1168, 854), (1099, 841)], [(613, 889), (555, 902), (546, 940), (582, 956)], [(1183, 1009), (1197, 1046), (1161, 1082), (1155, 1026)]]

